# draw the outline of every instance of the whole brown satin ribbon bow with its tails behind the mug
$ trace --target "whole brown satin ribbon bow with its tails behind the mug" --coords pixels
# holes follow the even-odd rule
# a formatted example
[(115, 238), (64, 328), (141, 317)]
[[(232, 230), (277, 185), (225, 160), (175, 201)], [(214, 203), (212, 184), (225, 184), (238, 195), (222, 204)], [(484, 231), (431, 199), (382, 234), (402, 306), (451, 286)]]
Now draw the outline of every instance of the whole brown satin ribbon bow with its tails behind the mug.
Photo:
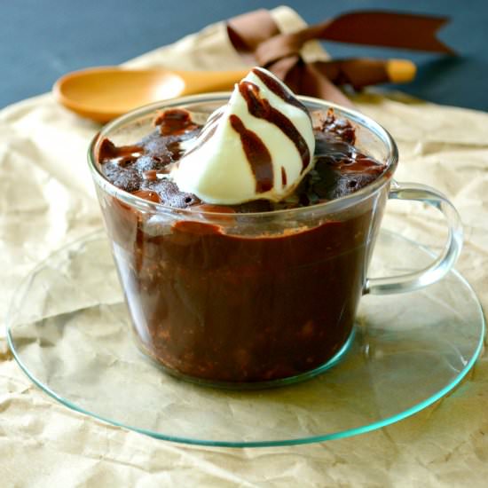
[(357, 43), (414, 51), (453, 54), (436, 38), (448, 21), (393, 12), (350, 12), (292, 34), (281, 34), (267, 10), (248, 12), (229, 20), (227, 33), (236, 51), (250, 64), (270, 69), (287, 85), (303, 95), (351, 105), (335, 85), (355, 89), (390, 81), (382, 59), (332, 59), (306, 63), (300, 51), (311, 40)]

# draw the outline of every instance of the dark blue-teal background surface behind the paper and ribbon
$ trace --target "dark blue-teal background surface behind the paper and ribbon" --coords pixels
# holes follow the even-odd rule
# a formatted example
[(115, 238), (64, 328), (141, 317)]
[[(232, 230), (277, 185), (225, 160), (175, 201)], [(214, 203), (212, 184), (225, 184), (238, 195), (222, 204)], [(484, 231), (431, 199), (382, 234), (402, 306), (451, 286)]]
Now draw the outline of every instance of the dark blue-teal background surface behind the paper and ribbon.
[[(68, 71), (118, 64), (216, 20), (279, 4), (283, 2), (0, 0), (0, 106), (49, 91)], [(419, 67), (417, 79), (401, 90), (437, 103), (488, 110), (488, 2), (300, 0), (288, 5), (309, 23), (359, 9), (450, 16), (439, 37), (459, 52), (457, 58), (340, 43), (326, 47), (334, 57), (413, 59)]]

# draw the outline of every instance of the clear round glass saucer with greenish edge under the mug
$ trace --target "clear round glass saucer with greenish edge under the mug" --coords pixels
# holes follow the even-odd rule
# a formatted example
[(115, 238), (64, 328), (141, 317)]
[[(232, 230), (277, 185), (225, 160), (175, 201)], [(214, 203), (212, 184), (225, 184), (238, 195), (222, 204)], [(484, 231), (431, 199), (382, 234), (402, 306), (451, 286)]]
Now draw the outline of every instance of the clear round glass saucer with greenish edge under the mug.
[[(420, 269), (428, 249), (382, 231), (372, 276)], [(419, 412), (478, 357), (484, 317), (458, 272), (404, 295), (366, 295), (350, 349), (333, 368), (270, 390), (216, 390), (164, 374), (133, 342), (105, 234), (59, 250), (31, 272), (7, 319), (12, 352), (64, 405), (189, 444), (295, 445), (348, 437)]]

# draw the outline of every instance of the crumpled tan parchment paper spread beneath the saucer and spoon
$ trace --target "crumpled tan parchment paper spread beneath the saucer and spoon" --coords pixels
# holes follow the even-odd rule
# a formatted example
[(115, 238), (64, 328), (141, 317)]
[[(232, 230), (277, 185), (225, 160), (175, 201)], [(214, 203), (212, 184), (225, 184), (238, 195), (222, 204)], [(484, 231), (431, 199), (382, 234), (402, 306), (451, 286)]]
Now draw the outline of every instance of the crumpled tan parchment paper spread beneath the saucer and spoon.
[[(303, 26), (286, 7), (284, 29)], [(317, 44), (305, 56), (326, 56)], [(128, 65), (242, 67), (223, 24)], [(360, 110), (397, 139), (400, 181), (433, 185), (460, 211), (457, 269), (488, 306), (488, 114), (368, 92)], [(67, 242), (100, 227), (85, 162), (98, 130), (51, 94), (0, 112), (0, 316), (20, 279)], [(390, 205), (384, 226), (437, 247), (442, 217)], [(226, 449), (171, 444), (75, 413), (38, 390), (0, 338), (0, 476), (3, 486), (484, 486), (488, 476), (488, 361), (482, 357), (443, 400), (387, 428), (315, 445)]]

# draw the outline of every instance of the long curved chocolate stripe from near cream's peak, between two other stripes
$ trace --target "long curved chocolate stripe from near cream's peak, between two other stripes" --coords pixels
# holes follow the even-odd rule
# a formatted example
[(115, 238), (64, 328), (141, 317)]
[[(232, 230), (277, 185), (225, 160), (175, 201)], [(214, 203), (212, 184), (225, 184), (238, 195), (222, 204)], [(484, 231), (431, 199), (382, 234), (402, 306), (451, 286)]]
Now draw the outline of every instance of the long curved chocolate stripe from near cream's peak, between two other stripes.
[(302, 172), (307, 169), (311, 161), (309, 146), (307, 146), (302, 134), (296, 130), (294, 123), (286, 115), (281, 114), (279, 110), (271, 106), (268, 100), (259, 96), (259, 87), (256, 84), (240, 82), (239, 91), (248, 104), (249, 114), (254, 115), (258, 119), (264, 119), (276, 125), (279, 130), (282, 130), (287, 138), (295, 144), (302, 158)]

